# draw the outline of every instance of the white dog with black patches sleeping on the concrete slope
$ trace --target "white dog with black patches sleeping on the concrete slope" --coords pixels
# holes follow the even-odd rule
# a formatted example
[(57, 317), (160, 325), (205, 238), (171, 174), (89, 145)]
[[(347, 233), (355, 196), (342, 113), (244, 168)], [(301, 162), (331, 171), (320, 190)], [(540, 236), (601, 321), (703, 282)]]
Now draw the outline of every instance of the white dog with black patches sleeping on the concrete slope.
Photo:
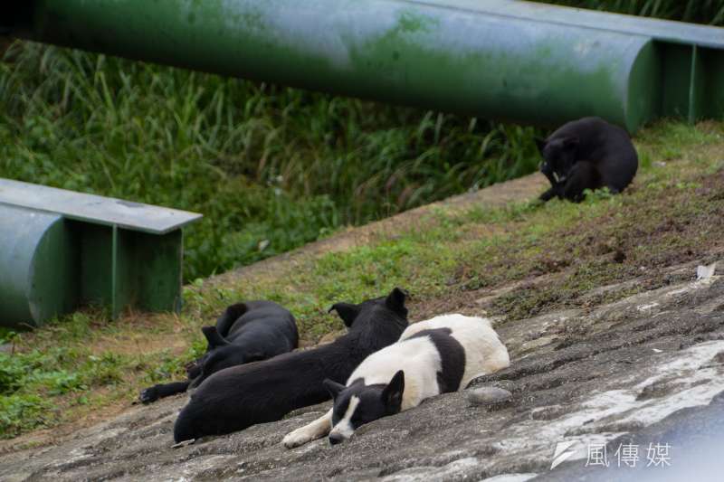
[(334, 397), (332, 409), (282, 442), (291, 449), (329, 434), (336, 444), (360, 425), (456, 392), (509, 364), (508, 349), (486, 318), (443, 315), (415, 323), (395, 345), (369, 355), (347, 386), (325, 380)]

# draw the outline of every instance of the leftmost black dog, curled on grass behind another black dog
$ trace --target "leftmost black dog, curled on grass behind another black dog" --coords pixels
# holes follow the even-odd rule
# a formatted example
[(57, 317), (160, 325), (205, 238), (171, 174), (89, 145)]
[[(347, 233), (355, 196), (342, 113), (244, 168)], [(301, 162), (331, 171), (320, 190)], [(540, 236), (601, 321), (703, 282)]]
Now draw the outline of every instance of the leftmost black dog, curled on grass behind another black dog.
[(289, 353), (299, 344), (294, 317), (271, 301), (247, 301), (227, 307), (216, 326), (201, 330), (208, 348), (204, 356), (186, 366), (188, 380), (149, 387), (140, 393), (141, 402), (156, 402), (186, 392), (219, 370)]

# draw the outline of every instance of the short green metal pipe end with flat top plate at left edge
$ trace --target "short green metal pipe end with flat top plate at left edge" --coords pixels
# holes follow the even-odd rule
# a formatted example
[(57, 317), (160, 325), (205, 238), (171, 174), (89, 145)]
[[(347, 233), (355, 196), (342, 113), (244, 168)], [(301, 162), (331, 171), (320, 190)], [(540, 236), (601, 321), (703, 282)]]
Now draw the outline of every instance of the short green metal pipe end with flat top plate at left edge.
[(85, 304), (177, 311), (182, 228), (200, 217), (0, 179), (0, 325)]

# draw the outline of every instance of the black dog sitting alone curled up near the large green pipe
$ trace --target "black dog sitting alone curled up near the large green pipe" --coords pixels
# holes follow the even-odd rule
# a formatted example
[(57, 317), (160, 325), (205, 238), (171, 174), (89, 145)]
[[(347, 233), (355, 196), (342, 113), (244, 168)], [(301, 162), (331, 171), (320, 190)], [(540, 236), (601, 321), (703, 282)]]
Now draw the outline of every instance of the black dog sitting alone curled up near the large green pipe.
[(540, 195), (544, 202), (557, 196), (578, 203), (584, 190), (601, 187), (620, 193), (631, 184), (639, 165), (628, 133), (602, 118), (568, 122), (537, 143), (544, 160), (540, 172), (551, 184)]

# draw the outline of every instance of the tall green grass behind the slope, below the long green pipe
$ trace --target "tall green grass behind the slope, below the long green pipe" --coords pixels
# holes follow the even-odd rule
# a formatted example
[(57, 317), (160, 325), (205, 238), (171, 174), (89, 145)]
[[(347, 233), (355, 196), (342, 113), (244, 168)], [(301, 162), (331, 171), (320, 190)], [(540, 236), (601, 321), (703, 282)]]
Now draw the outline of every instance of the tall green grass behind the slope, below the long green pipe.
[(186, 278), (535, 167), (514, 128), (19, 43), (0, 176), (205, 214)]

